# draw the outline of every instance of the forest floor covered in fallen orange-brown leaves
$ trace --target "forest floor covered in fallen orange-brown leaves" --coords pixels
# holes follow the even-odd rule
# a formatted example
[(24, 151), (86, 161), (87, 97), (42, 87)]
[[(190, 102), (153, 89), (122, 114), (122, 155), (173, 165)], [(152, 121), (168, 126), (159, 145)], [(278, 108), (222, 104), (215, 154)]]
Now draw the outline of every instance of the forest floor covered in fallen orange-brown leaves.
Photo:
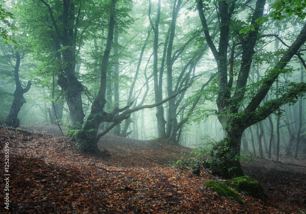
[[(9, 142), (10, 152), (9, 172), (1, 170), (2, 176), (9, 174), (9, 210), (2, 202), (7, 191), (3, 180), (1, 213), (306, 213), (304, 154), (298, 160), (280, 157), (281, 163), (242, 162), (245, 175), (263, 184), (267, 201), (241, 195), (241, 205), (203, 186), (207, 180), (222, 181), (209, 169), (195, 176), (191, 168), (171, 167), (187, 160), (192, 149), (108, 133), (99, 148), (109, 156), (101, 159), (80, 154), (58, 127), (22, 128), (53, 135), (24, 141), (30, 136), (23, 139), (20, 132), (0, 129), (0, 148)], [(3, 149), (1, 154), (3, 169)]]

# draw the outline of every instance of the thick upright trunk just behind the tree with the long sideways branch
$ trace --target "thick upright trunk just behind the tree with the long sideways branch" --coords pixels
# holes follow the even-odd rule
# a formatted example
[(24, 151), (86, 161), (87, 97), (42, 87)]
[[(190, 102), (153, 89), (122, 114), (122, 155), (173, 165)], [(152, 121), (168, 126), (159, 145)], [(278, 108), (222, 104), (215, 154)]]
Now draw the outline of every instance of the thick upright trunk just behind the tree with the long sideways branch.
[(84, 87), (75, 74), (76, 56), (80, 49), (76, 46), (77, 36), (82, 37), (88, 27), (83, 27), (81, 33), (78, 32), (81, 28), (79, 21), (84, 17), (84, 14), (81, 14), (82, 2), (62, 1), (62, 15), (59, 20), (55, 20), (51, 6), (43, 0), (40, 1), (47, 7), (57, 40), (62, 43), (62, 46), (59, 42), (54, 44), (54, 49), (62, 53), (63, 72), (58, 74), (58, 85), (65, 91), (65, 100), (69, 107), (69, 124), (76, 127), (77, 124), (83, 123), (85, 116), (81, 98)]

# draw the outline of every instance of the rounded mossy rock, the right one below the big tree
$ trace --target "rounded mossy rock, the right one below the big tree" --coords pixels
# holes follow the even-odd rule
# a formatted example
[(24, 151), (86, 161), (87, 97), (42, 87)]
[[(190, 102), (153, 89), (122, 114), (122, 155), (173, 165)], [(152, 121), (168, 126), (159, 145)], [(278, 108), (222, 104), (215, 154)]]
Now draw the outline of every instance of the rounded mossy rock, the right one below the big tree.
[(236, 177), (225, 182), (242, 194), (250, 195), (262, 201), (266, 200), (266, 194), (259, 181), (256, 181), (247, 176)]

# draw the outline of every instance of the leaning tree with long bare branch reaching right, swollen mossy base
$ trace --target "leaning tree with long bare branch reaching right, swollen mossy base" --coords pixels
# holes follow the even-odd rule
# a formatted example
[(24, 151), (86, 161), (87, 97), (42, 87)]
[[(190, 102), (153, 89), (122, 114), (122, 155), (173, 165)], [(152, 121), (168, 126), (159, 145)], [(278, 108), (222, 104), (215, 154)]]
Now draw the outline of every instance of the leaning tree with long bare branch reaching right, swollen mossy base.
[[(122, 10), (120, 10), (122, 11)], [(100, 82), (100, 89), (91, 106), (91, 113), (88, 116), (86, 122), (83, 125), (81, 131), (76, 134), (76, 140), (78, 142), (78, 149), (80, 152), (90, 152), (97, 154), (99, 156), (105, 157), (105, 154), (101, 152), (98, 148), (97, 142), (99, 138), (110, 131), (114, 126), (121, 123), (121, 121), (126, 120), (130, 117), (131, 113), (139, 111), (145, 108), (154, 108), (156, 106), (162, 105), (166, 101), (174, 98), (178, 94), (182, 93), (182, 91), (187, 90), (190, 87), (191, 83), (185, 85), (180, 91), (177, 93), (172, 94), (168, 98), (161, 100), (152, 105), (138, 105), (133, 109), (129, 109), (134, 101), (131, 101), (129, 105), (126, 105), (122, 109), (116, 107), (113, 112), (106, 113), (103, 108), (106, 104), (105, 93), (106, 93), (106, 73), (107, 73), (107, 64), (111, 50), (111, 44), (114, 35), (114, 22), (115, 16), (118, 15), (119, 10), (116, 9), (116, 0), (112, 0), (110, 4), (110, 18), (109, 18), (109, 27), (108, 27), (108, 35), (106, 40), (106, 47), (103, 54), (102, 64), (101, 64), (101, 82)], [(117, 113), (121, 113), (116, 116)], [(113, 124), (108, 127), (104, 132), (98, 135), (98, 129), (101, 122), (112, 122)]]

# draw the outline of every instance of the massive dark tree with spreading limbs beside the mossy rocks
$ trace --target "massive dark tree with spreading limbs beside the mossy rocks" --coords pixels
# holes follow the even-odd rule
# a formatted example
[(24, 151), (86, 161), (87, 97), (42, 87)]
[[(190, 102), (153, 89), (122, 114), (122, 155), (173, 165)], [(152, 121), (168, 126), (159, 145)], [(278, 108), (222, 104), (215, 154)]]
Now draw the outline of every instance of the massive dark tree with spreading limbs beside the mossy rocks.
[[(218, 36), (217, 48), (209, 33), (204, 14), (203, 0), (196, 2), (196, 8), (202, 23), (205, 40), (218, 66), (217, 116), (219, 122), (223, 126), (225, 137), (218, 142), (218, 145), (213, 149), (215, 161), (212, 163), (212, 167), (215, 174), (224, 178), (243, 175), (239, 159), (243, 131), (252, 124), (265, 119), (285, 103), (296, 102), (295, 98), (306, 90), (306, 85), (304, 83), (292, 83), (291, 87), (289, 87), (280, 98), (267, 101), (260, 106), (278, 76), (283, 72), (287, 72), (285, 66), (294, 54), (299, 52), (300, 47), (306, 41), (306, 25), (304, 25), (300, 34), (293, 44), (288, 47), (274, 68), (270, 69), (267, 75), (257, 82), (256, 85), (259, 85), (259, 90), (251, 97), (248, 96), (248, 99), (245, 98), (245, 94), (249, 89), (247, 86), (247, 79), (255, 53), (254, 48), (256, 42), (260, 38), (260, 32), (262, 32), (256, 20), (263, 16), (265, 4), (265, 0), (256, 1), (255, 9), (248, 23), (251, 24), (252, 30), (245, 32), (243, 35), (239, 35), (238, 31), (231, 31), (233, 30), (231, 27), (234, 24), (233, 14), (235, 10), (239, 8), (239, 5), (236, 1), (218, 1), (218, 4), (215, 5), (220, 19), (220, 34)], [(233, 35), (231, 34), (235, 34), (236, 39), (239, 39), (240, 42), (233, 40)], [(216, 37), (214, 39), (217, 40)], [(227, 55), (228, 47), (231, 46), (230, 42), (233, 43), (233, 47), (240, 46), (242, 49), (238, 76), (235, 76), (235, 88), (233, 84), (234, 75), (232, 75), (232, 71), (228, 71), (227, 68), (227, 62), (229, 61)], [(230, 63), (233, 63), (233, 61), (230, 61)], [(246, 103), (246, 108), (241, 110), (243, 103)]]

